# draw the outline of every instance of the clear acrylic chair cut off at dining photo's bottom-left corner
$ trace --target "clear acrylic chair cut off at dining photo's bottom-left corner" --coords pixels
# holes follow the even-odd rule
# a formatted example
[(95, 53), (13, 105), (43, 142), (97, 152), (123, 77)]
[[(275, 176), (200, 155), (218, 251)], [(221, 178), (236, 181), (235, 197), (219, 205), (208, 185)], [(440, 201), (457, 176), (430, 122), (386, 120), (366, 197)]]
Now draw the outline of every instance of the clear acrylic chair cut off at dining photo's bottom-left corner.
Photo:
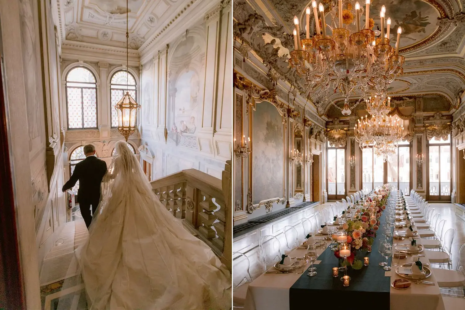
[(250, 260), (246, 254), (233, 252), (233, 309), (243, 309), (246, 304), (246, 294), (252, 282), (250, 275)]

